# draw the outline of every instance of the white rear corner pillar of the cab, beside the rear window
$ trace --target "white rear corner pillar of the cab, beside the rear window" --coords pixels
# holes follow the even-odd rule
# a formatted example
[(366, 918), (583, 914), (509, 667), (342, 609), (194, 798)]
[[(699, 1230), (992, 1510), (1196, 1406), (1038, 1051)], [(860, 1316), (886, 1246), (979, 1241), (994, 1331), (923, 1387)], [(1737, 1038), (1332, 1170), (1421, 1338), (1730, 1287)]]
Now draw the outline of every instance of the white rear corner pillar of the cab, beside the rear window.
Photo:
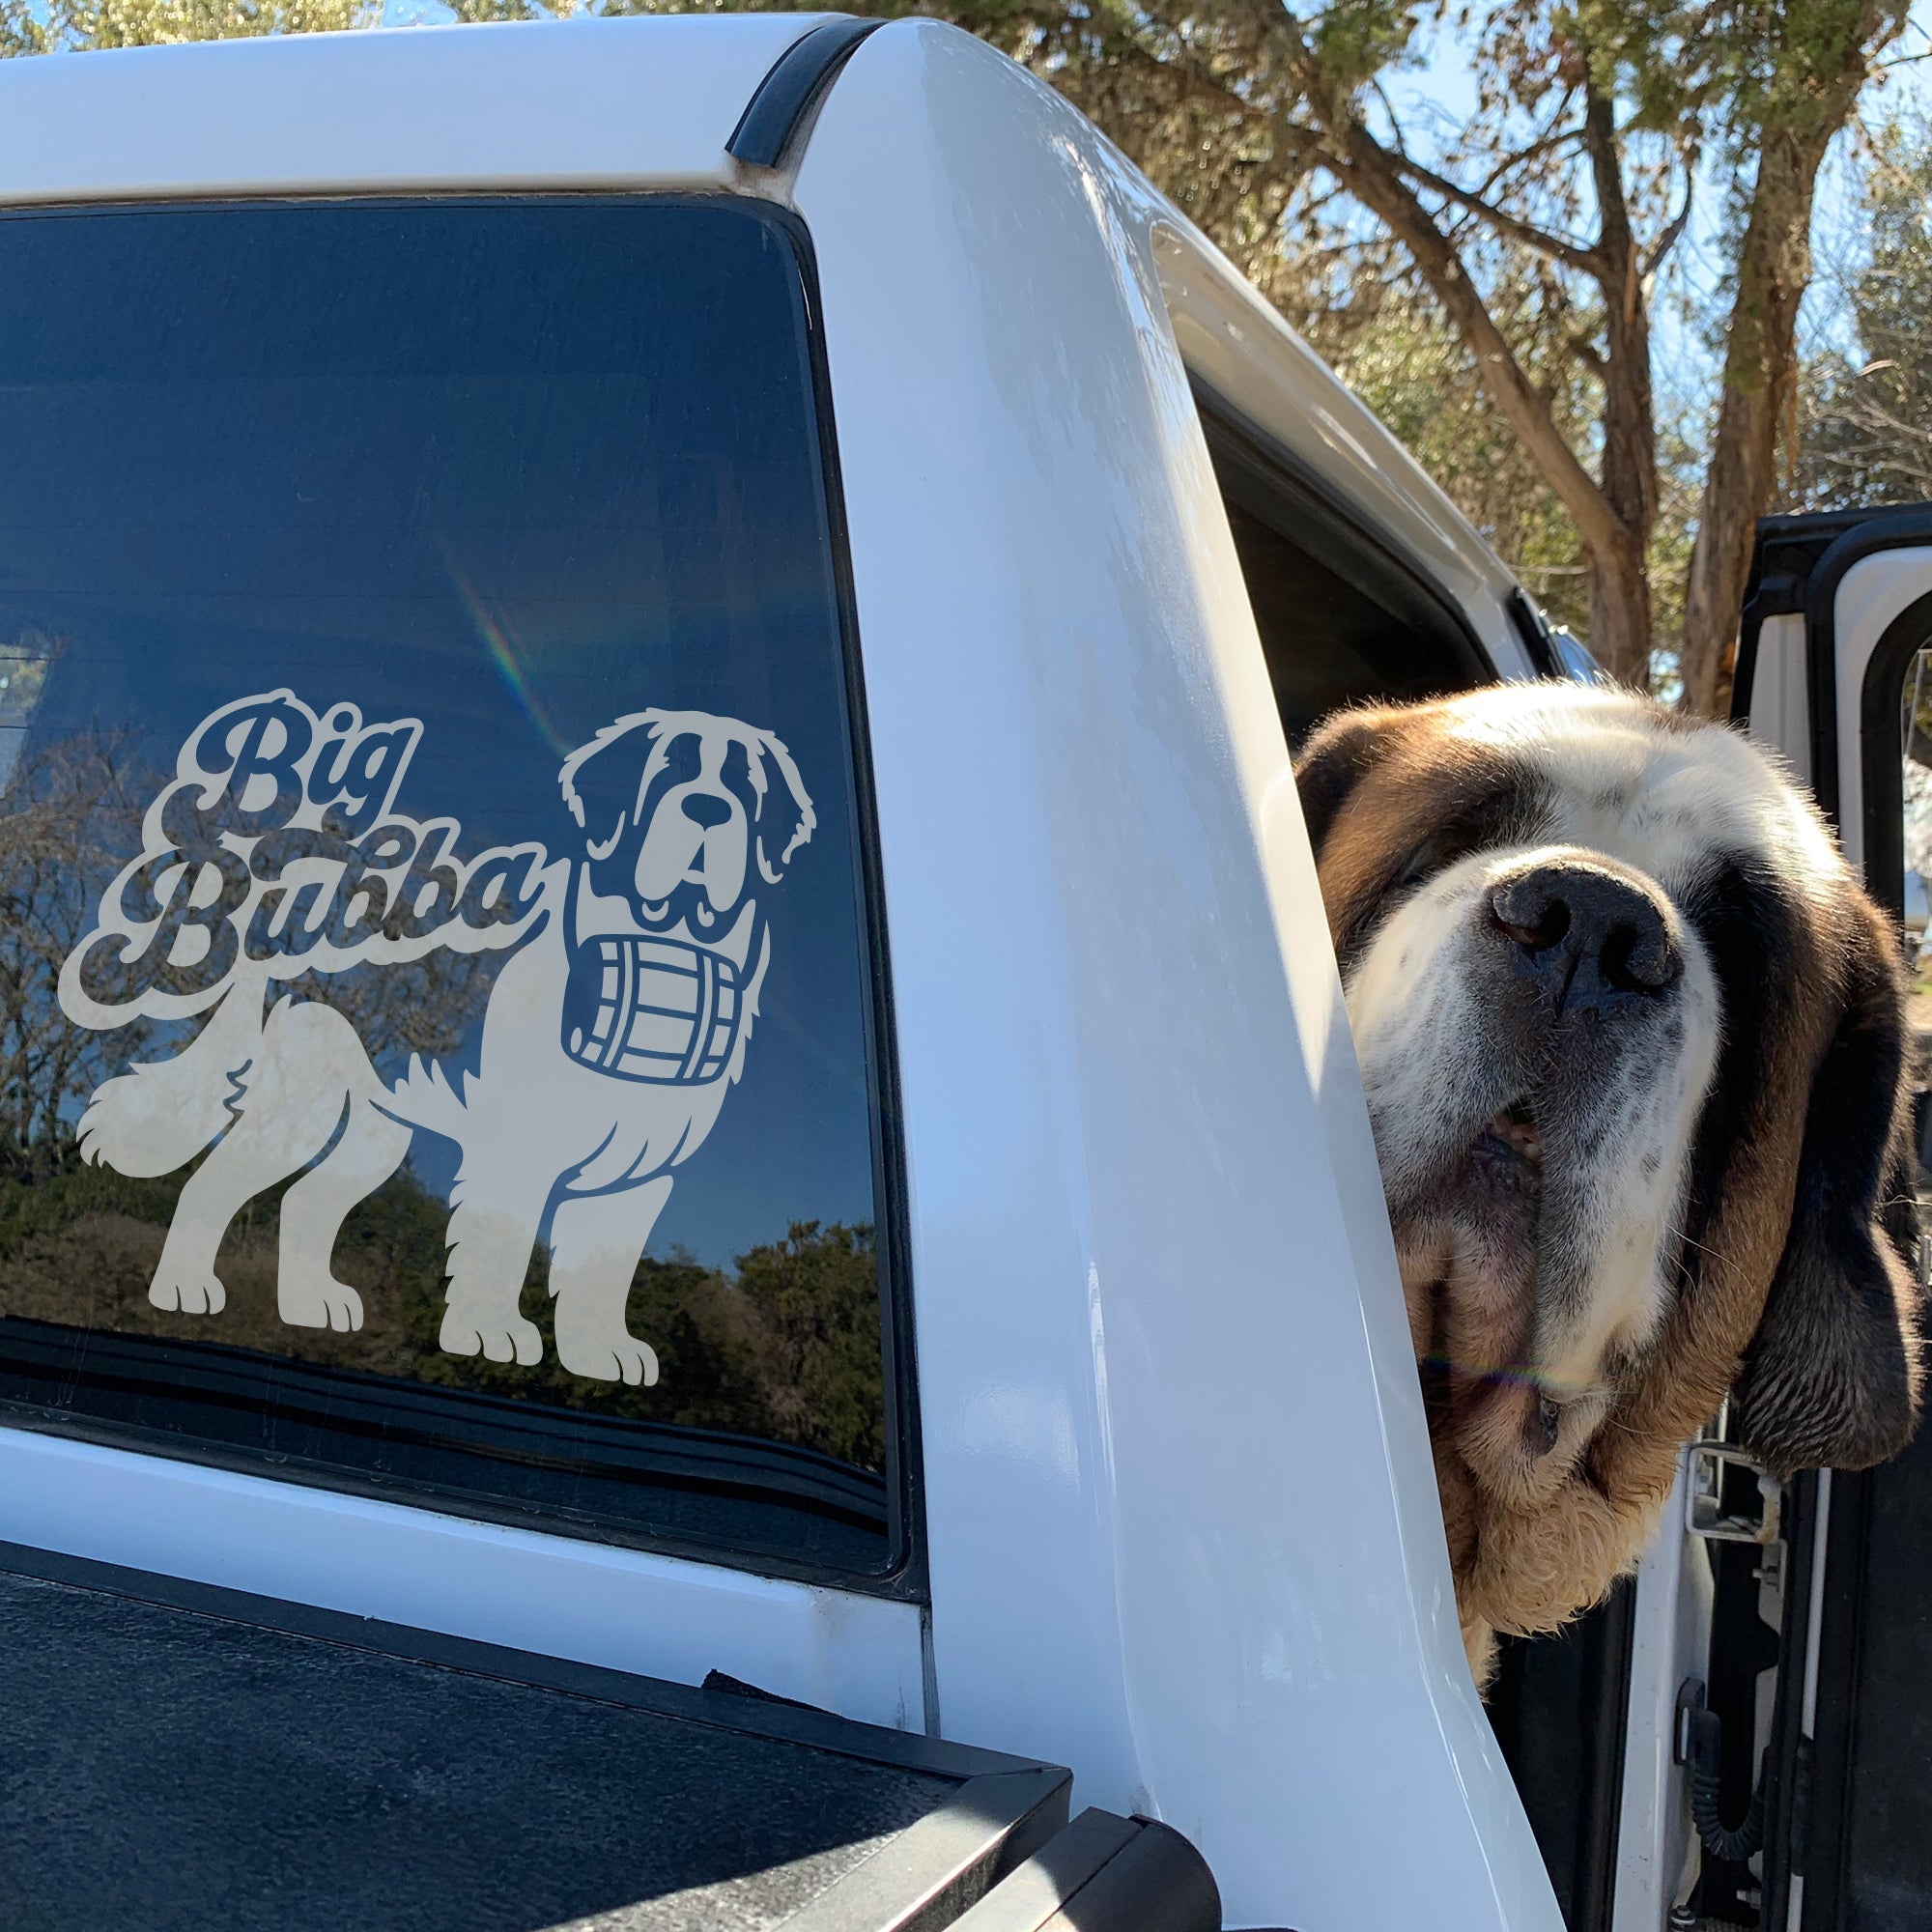
[[(1173, 211), (1045, 87), (910, 21), (840, 77), (796, 203), (947, 1731), (1171, 1820), (1229, 1924), (1555, 1928), (1463, 1662), (1341, 987), (1163, 301)], [(1333, 464), (1385, 448), (1335, 413)]]

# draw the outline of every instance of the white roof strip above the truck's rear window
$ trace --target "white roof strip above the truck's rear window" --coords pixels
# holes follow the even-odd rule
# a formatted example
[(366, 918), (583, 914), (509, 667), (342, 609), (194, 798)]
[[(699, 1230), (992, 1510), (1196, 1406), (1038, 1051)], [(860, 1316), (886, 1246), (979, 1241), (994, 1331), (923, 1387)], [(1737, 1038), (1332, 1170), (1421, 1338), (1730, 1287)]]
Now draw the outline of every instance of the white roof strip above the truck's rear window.
[(726, 187), (813, 14), (390, 27), (0, 62), (0, 205)]

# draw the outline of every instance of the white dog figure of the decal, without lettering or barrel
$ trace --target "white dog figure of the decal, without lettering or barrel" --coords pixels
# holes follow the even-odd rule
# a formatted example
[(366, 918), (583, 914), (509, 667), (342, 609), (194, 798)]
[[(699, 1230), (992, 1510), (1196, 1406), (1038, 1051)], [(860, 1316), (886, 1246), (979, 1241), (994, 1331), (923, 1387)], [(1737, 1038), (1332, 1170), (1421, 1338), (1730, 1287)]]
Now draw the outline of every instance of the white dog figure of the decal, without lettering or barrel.
[[(680, 740), (696, 740), (697, 773), (651, 800)], [(630, 804), (620, 786), (607, 821), (587, 823), (585, 769), (626, 750), (641, 752)], [(732, 750), (748, 763), (750, 813), (724, 782)], [(578, 1376), (657, 1379), (657, 1356), (630, 1335), (624, 1302), (670, 1196), (670, 1169), (711, 1132), (744, 1070), (771, 956), (769, 927), (753, 918), (753, 893), (761, 881), (779, 881), (815, 819), (790, 753), (771, 732), (696, 711), (639, 711), (614, 721), (566, 761), (560, 784), (587, 850), (545, 867), (541, 925), (491, 987), (473, 1076), (452, 1084), (440, 1066), (415, 1061), (384, 1086), (340, 1012), (286, 997), (265, 1010), (269, 968), (243, 960), (176, 1059), (135, 1066), (99, 1088), (79, 1128), (91, 1161), (135, 1175), (170, 1173), (213, 1144), (182, 1190), (149, 1289), (155, 1306), (218, 1312), (226, 1296), (214, 1262), (230, 1221), (257, 1194), (298, 1175), (282, 1198), (282, 1320), (361, 1327), (361, 1298), (330, 1267), (336, 1236), (348, 1211), (402, 1165), (413, 1130), (429, 1128), (462, 1148), (442, 1347), (497, 1362), (541, 1360), (541, 1335), (520, 1314), (518, 1298), (549, 1209), (558, 1360)], [(755, 823), (773, 790), (786, 798), (784, 837), (775, 848)], [(694, 794), (715, 802), (703, 813), (709, 823), (684, 811)], [(628, 895), (597, 893), (591, 862), (611, 858), (628, 833), (639, 835)], [(668, 933), (647, 927), (639, 914), (663, 920), (667, 896), (684, 883), (701, 889), (694, 895), (699, 929), (686, 922)], [(558, 1043), (572, 941), (653, 929), (738, 968), (742, 1022), (711, 1080), (620, 1080), (574, 1061)]]

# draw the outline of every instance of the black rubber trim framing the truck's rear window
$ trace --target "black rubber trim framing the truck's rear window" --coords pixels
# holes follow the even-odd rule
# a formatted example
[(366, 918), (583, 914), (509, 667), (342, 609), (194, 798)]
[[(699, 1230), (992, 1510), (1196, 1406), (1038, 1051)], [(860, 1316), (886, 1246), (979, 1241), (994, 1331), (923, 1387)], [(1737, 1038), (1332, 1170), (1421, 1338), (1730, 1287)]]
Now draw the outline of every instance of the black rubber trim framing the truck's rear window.
[[(810, 39), (810, 37), (808, 37)], [(856, 39), (850, 43), (856, 46)], [(158, 197), (85, 201), (85, 203), (35, 203), (0, 209), (0, 220), (39, 220), (46, 216), (139, 216), (147, 213), (174, 213), (184, 209), (220, 213), (226, 209), (263, 207), (315, 207), (352, 201), (359, 207), (421, 207), (425, 203), (514, 207), (531, 201), (605, 201), (632, 205), (717, 205), (730, 201), (755, 218), (767, 222), (775, 234), (792, 249), (794, 267), (800, 278), (806, 354), (811, 371), (813, 410), (817, 417), (819, 464), (825, 487), (825, 518), (831, 543), (833, 595), (838, 618), (838, 636), (844, 661), (844, 703), (852, 750), (852, 850), (858, 867), (860, 906), (864, 912), (866, 974), (860, 989), (864, 1024), (869, 1049), (871, 1074), (871, 1167), (873, 1202), (879, 1215), (875, 1225), (875, 1256), (879, 1269), (879, 1314), (881, 1314), (881, 1352), (883, 1352), (883, 1395), (885, 1395), (885, 1515), (887, 1515), (887, 1555), (877, 1571), (846, 1569), (813, 1559), (786, 1557), (775, 1551), (753, 1551), (730, 1544), (713, 1544), (694, 1538), (667, 1536), (634, 1524), (612, 1524), (603, 1519), (578, 1519), (576, 1515), (545, 1511), (502, 1499), (493, 1501), (471, 1492), (439, 1492), (433, 1484), (384, 1482), (367, 1472), (338, 1468), (334, 1464), (305, 1464), (298, 1459), (265, 1459), (242, 1451), (224, 1449), (220, 1443), (199, 1443), (187, 1435), (172, 1435), (135, 1428), (116, 1428), (87, 1416), (68, 1416), (48, 1408), (19, 1406), (0, 1403), (0, 1428), (19, 1428), (31, 1434), (62, 1435), (81, 1441), (99, 1441), (110, 1447), (153, 1455), (164, 1461), (191, 1463), (195, 1466), (228, 1468), (238, 1474), (253, 1474), (270, 1482), (290, 1482), (303, 1488), (332, 1490), (336, 1493), (363, 1495), (369, 1499), (402, 1507), (427, 1509), (437, 1515), (468, 1517), (475, 1520), (504, 1522), (514, 1528), (537, 1534), (554, 1534), (580, 1542), (599, 1542), (609, 1548), (645, 1549), (684, 1561), (705, 1563), (721, 1569), (748, 1571), (759, 1577), (786, 1578), (823, 1588), (844, 1590), (862, 1596), (879, 1596), (896, 1602), (929, 1607), (929, 1567), (925, 1538), (925, 1484), (918, 1405), (918, 1354), (912, 1327), (912, 1252), (910, 1252), (910, 1213), (906, 1196), (906, 1157), (900, 1109), (898, 1080), (898, 1041), (893, 1024), (891, 999), (891, 949), (885, 923), (885, 879), (879, 858), (879, 813), (871, 761), (871, 726), (866, 709), (864, 659), (858, 632), (858, 597), (852, 576), (850, 533), (844, 514), (844, 477), (838, 462), (837, 419), (833, 410), (831, 365), (825, 350), (823, 317), (825, 305), (819, 296), (817, 253), (806, 222), (790, 209), (763, 195), (707, 193), (674, 189), (651, 193), (647, 189), (553, 189), (531, 187), (524, 193), (489, 191), (444, 191), (423, 193), (379, 191), (379, 193), (286, 193), (272, 191), (261, 195), (220, 193), (209, 197)], [(251, 1350), (230, 1349), (226, 1354), (245, 1358)], [(278, 1364), (284, 1358), (274, 1358)], [(328, 1372), (344, 1374), (344, 1372)], [(354, 1376), (354, 1372), (346, 1372)], [(379, 1379), (379, 1378), (367, 1378)], [(641, 1428), (632, 1424), (632, 1428)], [(665, 1426), (670, 1428), (670, 1426)], [(701, 1437), (707, 1432), (684, 1432)], [(719, 1441), (711, 1435), (711, 1441)], [(753, 1445), (755, 1449), (757, 1445)], [(784, 1445), (773, 1445), (782, 1449)], [(800, 1451), (802, 1463), (813, 1459), (811, 1451)], [(701, 1461), (701, 1455), (694, 1461)], [(748, 1461), (755, 1461), (755, 1455)], [(810, 1472), (796, 1486), (800, 1501), (810, 1507), (813, 1484)], [(825, 1493), (825, 1501), (837, 1513), (837, 1484)], [(769, 1495), (771, 1492), (759, 1492)]]

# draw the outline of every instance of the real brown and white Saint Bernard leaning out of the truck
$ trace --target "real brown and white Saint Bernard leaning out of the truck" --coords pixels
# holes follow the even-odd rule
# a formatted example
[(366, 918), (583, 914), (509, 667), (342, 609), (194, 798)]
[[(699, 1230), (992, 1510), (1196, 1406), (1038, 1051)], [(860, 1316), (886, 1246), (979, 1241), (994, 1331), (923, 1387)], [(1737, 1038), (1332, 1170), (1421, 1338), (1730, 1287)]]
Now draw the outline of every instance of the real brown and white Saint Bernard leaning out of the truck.
[(1634, 696), (1343, 711), (1296, 782), (1484, 1681), (1727, 1391), (1779, 1472), (1911, 1435), (1899, 954), (1768, 755)]

